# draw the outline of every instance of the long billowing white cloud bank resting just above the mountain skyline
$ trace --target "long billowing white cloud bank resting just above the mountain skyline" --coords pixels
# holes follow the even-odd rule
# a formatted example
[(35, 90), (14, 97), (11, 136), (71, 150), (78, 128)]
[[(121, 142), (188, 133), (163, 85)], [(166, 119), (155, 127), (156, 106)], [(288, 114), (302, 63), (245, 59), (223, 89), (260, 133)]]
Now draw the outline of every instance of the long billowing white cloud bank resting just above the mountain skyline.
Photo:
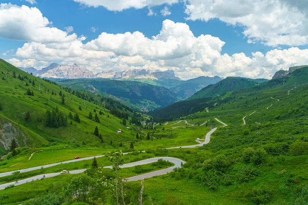
[(252, 57), (244, 53), (222, 54), (225, 42), (218, 37), (195, 36), (187, 24), (169, 19), (163, 21), (160, 32), (151, 38), (135, 31), (103, 32), (88, 43), (85, 40), (81, 36), (68, 42), (27, 42), (17, 49), (16, 58), (8, 61), (15, 66), (38, 68), (52, 61), (76, 63), (93, 72), (172, 69), (182, 79), (200, 75), (271, 78), (281, 68), (308, 64), (308, 49), (295, 47), (255, 52)]

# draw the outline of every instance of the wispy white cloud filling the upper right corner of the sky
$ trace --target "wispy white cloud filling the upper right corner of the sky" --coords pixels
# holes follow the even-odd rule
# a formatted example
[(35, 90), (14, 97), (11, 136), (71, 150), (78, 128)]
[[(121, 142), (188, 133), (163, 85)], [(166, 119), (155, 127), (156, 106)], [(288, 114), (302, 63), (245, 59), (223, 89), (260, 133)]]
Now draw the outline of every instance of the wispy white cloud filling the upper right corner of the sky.
[[(291, 3), (293, 2), (293, 3)], [(308, 44), (307, 12), (299, 1), (291, 0), (188, 0), (185, 13), (190, 20), (219, 18), (223, 22), (242, 26), (248, 43), (261, 42), (267, 46), (300, 46)], [(305, 8), (306, 3), (303, 3)]]

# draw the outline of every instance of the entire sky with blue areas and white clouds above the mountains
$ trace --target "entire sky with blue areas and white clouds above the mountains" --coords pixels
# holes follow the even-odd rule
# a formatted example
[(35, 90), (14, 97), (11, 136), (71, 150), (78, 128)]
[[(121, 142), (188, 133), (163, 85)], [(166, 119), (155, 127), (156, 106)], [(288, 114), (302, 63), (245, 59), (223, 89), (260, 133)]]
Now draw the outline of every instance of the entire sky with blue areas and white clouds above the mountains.
[[(32, 30), (34, 31), (30, 29), (28, 31), (27, 28), (22, 28), (22, 25), (17, 23), (16, 25), (6, 24), (5, 19), (3, 19), (4, 28), (0, 27), (0, 29), (7, 29), (8, 31), (3, 34), (0, 31), (0, 57), (16, 66), (34, 66), (38, 69), (52, 61), (64, 64), (78, 63), (94, 73), (110, 69), (147, 69), (152, 67), (161, 70), (173, 69), (183, 79), (199, 75), (241, 75), (269, 78), (280, 68), (287, 69), (288, 66), (306, 63), (306, 59), (303, 57), (300, 59), (294, 57), (303, 56), (307, 49), (308, 32), (298, 27), (297, 19), (302, 18), (302, 27), (308, 22), (305, 10), (299, 9), (303, 7), (302, 5), (292, 5), (292, 2), (290, 1), (290, 3), (287, 0), (275, 0), (277, 4), (281, 4), (277, 7), (266, 5), (265, 1), (262, 0), (249, 0), (247, 4), (240, 0), (226, 0), (225, 3), (222, 3), (224, 1), (213, 1), (213, 5), (208, 5), (210, 4), (208, 1), (202, 3), (202, 1), (196, 0), (188, 0), (185, 3), (178, 0), (157, 1), (160, 3), (153, 3), (155, 1), (151, 0), (140, 1), (144, 5), (138, 4), (138, 1), (134, 5), (129, 3), (128, 0), (119, 0), (118, 5), (116, 5), (109, 0), (36, 0), (34, 2), (33, 0), (3, 0), (1, 2), (3, 8), (0, 10), (0, 14), (1, 12), (11, 11), (12, 6), (4, 6), (5, 3), (16, 6), (17, 9), (21, 10), (22, 5), (29, 7), (30, 10), (35, 7), (38, 12), (41, 12), (42, 16), (49, 20), (48, 25), (40, 26), (40, 28), (55, 28), (61, 33), (66, 31), (66, 27), (72, 27), (73, 31), (64, 34), (63, 39), (65, 35), (70, 36), (73, 33), (76, 37), (71, 36), (71, 40), (62, 40), (59, 37), (61, 36), (60, 33), (54, 33), (55, 37), (52, 37), (48, 32), (44, 33), (48, 38), (47, 40), (39, 39), (40, 36), (35, 37), (38, 34), (35, 33), (36, 28), (33, 25), (35, 25), (35, 20), (39, 16), (32, 14), (31, 10), (24, 15), (29, 15), (29, 22), (34, 22), (33, 25), (29, 23), (29, 27), (33, 26)], [(232, 4), (229, 4), (230, 2)], [(253, 5), (255, 4), (253, 3), (258, 2), (260, 4), (254, 8)], [(266, 18), (268, 13), (265, 12), (269, 11), (262, 13), (262, 6), (266, 8), (263, 10), (270, 9), (273, 16)], [(164, 8), (170, 12), (169, 15), (164, 16), (161, 13)], [(208, 8), (213, 9), (208, 10)], [(148, 14), (149, 10), (152, 11), (153, 15)], [(279, 12), (280, 14), (275, 14)], [(19, 12), (15, 11), (11, 14), (16, 17), (16, 21), (18, 22), (18, 17), (20, 17), (28, 24), (27, 18), (22, 15), (18, 16), (17, 13)], [(284, 18), (288, 18), (288, 16), (292, 17), (284, 22)], [(9, 17), (11, 16), (7, 15), (7, 18)], [(157, 45), (157, 41), (155, 42), (152, 36), (160, 34), (160, 31), (164, 28), (163, 22), (166, 19), (170, 21), (165, 24), (165, 28), (174, 27), (174, 31), (177, 31), (178, 50), (187, 49), (187, 51), (182, 53), (177, 49), (168, 51), (169, 44), (165, 40), (166, 56), (163, 56), (164, 54), (161, 54), (161, 51), (153, 51), (155, 54), (148, 54), (141, 47), (144, 45), (151, 49), (151, 45)], [(176, 23), (186, 24), (189, 28), (182, 28), (182, 24)], [(38, 20), (37, 25), (39, 24), (40, 20)], [(288, 27), (290, 27), (290, 32)], [(93, 28), (95, 32), (93, 32)], [(11, 31), (15, 32), (14, 36), (18, 35), (18, 32), (21, 33), (21, 36), (10, 37), (12, 35), (8, 32)], [(140, 43), (139, 39), (136, 39), (137, 36), (128, 36), (126, 39), (128, 42), (122, 42), (121, 46), (118, 45), (123, 36), (117, 34), (135, 31), (141, 32), (146, 39), (149, 39), (149, 45), (143, 42), (145, 40), (143, 38)], [(189, 31), (194, 34), (194, 37), (189, 36)], [(33, 32), (33, 35), (31, 32)], [(100, 39), (99, 35), (102, 32), (112, 35), (103, 36)], [(183, 36), (179, 37), (182, 32)], [(22, 35), (22, 33), (26, 34)], [(41, 31), (38, 33), (42, 35)], [(186, 47), (182, 46), (185, 33), (188, 33), (188, 38), (193, 38), (191, 39), (194, 42), (192, 43), (194, 46), (191, 46), (193, 48), (189, 44), (185, 45)], [(170, 36), (173, 37), (174, 33), (168, 30), (166, 35), (164, 39), (169, 39)], [(210, 36), (204, 40), (197, 39), (200, 35)], [(85, 39), (78, 40), (81, 36), (85, 36)], [(106, 42), (102, 43), (101, 40), (108, 37), (110, 37), (111, 45), (106, 46)], [(215, 37), (219, 38), (217, 42), (214, 40)], [(95, 42), (91, 43), (91, 40)], [(137, 40), (138, 46), (132, 45), (126, 50), (121, 49), (127, 44), (133, 44), (132, 40)], [(212, 43), (213, 40), (215, 43)], [(67, 43), (67, 45), (65, 44), (67, 48), (59, 50), (58, 47), (64, 45), (64, 42)], [(76, 50), (68, 50), (68, 47), (74, 45), (73, 42), (79, 45), (78, 48), (82, 47), (78, 54)], [(225, 42), (225, 44), (223, 45), (222, 42)], [(38, 46), (38, 44), (40, 45)], [(158, 44), (160, 45), (160, 43)], [(29, 45), (31, 49), (26, 48)], [(172, 47), (174, 44), (171, 42), (170, 46)], [(44, 49), (56, 47), (58, 50), (48, 50), (48, 52), (58, 54), (48, 53), (47, 56), (47, 50), (43, 51), (43, 47)], [(20, 48), (19, 52), (17, 52), (18, 48)], [(133, 49), (137, 51), (130, 53), (130, 50)], [(200, 55), (198, 49), (201, 51)], [(73, 55), (69, 54), (75, 51), (76, 53)], [(59, 53), (62, 52), (62, 56), (59, 57)], [(97, 52), (95, 53), (96, 56), (104, 57), (94, 58), (89, 56), (89, 52)], [(105, 59), (107, 52), (112, 54), (109, 53), (108, 59)], [(84, 60), (81, 60), (81, 58)], [(114, 59), (118, 60), (115, 61)]]

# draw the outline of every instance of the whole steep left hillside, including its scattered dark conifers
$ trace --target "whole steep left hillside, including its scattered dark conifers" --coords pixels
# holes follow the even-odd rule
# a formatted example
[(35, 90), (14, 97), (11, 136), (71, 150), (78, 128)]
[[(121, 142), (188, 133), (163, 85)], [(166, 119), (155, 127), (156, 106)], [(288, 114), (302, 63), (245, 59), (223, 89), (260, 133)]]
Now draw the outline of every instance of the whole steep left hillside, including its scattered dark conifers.
[[(117, 101), (61, 88), (0, 59), (0, 154), (12, 139), (18, 147), (120, 141), (134, 137), (130, 132), (116, 134), (126, 128), (124, 119), (137, 127), (141, 118)], [(95, 127), (98, 136), (93, 134)]]

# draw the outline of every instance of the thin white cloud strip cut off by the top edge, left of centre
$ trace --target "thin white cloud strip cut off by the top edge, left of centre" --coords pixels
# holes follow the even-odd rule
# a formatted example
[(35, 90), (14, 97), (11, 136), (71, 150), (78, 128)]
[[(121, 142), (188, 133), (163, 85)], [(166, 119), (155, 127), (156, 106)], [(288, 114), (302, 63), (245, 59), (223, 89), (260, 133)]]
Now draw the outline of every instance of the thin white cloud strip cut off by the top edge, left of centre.
[(103, 6), (109, 11), (123, 11), (129, 8), (142, 9), (144, 7), (158, 6), (163, 4), (176, 4), (179, 0), (73, 0), (89, 7)]

